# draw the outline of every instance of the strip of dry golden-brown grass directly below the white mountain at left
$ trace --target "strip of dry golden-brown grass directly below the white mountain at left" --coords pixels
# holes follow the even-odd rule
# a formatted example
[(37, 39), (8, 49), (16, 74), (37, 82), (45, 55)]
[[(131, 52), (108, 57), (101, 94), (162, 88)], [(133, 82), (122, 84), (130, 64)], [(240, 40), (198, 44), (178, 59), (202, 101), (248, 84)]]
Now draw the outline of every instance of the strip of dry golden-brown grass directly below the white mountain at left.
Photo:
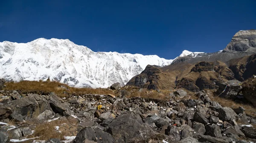
[[(44, 82), (44, 81), (20, 81), (20, 82), (6, 82), (4, 90), (20, 90), (21, 93), (50, 93), (55, 92), (60, 97), (65, 97), (67, 94), (114, 94), (112, 90), (102, 88), (76, 88), (69, 87), (67, 84), (62, 84), (56, 81)], [(67, 87), (67, 89), (61, 86)]]

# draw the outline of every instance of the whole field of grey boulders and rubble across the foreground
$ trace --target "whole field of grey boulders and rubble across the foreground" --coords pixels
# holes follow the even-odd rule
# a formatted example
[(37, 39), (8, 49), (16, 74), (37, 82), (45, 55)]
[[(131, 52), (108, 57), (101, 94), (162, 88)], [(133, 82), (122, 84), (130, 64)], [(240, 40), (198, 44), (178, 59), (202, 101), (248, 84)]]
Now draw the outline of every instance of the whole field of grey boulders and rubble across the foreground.
[[(123, 92), (124, 93), (124, 92)], [(169, 101), (119, 95), (0, 91), (0, 143), (249, 143), (256, 118), (211, 101), (202, 90)]]

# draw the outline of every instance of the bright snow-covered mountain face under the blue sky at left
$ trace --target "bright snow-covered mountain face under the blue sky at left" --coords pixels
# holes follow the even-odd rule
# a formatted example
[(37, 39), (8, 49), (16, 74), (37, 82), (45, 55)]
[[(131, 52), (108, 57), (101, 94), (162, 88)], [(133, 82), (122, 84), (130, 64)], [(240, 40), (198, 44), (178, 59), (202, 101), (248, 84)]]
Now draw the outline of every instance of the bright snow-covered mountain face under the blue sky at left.
[(172, 60), (156, 55), (93, 52), (68, 39), (36, 39), (28, 43), (0, 42), (0, 78), (8, 81), (48, 77), (76, 87), (126, 84), (146, 65), (165, 66)]

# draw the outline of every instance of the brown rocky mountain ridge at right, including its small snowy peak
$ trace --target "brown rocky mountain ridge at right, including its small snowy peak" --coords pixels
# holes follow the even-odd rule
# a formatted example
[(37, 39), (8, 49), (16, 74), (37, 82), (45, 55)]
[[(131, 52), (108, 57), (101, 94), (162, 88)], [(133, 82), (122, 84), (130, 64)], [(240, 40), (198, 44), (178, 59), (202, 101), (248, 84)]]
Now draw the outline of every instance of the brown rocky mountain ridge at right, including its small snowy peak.
[(147, 89), (216, 89), (228, 80), (244, 81), (256, 74), (256, 30), (239, 31), (224, 50), (189, 53), (165, 67), (148, 65), (126, 85)]

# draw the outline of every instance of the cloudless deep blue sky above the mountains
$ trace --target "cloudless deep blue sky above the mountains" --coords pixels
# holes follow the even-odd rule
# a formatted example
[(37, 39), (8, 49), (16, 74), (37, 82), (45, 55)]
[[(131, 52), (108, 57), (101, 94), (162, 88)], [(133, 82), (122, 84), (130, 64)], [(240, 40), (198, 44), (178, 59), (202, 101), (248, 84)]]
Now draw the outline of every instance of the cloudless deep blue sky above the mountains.
[(174, 59), (256, 29), (256, 0), (0, 0), (0, 42), (70, 39), (93, 51)]

